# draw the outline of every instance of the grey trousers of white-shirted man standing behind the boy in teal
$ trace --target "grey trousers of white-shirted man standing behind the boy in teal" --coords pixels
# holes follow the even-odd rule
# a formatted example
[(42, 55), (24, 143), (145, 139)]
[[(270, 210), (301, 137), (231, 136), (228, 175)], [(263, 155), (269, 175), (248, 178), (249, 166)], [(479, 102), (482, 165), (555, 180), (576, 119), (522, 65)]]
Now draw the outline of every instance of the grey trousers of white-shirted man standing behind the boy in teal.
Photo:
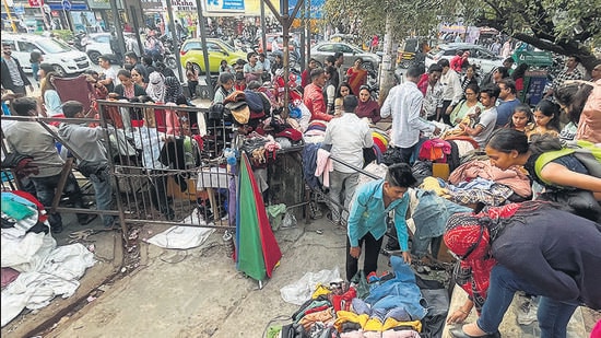
[(330, 199), (331, 210), (332, 210), (332, 221), (339, 222), (340, 219), (347, 219), (347, 212), (342, 213), (342, 208), (349, 210), (349, 205), (355, 189), (358, 185), (358, 173), (342, 173), (339, 171), (333, 171), (330, 173)]

